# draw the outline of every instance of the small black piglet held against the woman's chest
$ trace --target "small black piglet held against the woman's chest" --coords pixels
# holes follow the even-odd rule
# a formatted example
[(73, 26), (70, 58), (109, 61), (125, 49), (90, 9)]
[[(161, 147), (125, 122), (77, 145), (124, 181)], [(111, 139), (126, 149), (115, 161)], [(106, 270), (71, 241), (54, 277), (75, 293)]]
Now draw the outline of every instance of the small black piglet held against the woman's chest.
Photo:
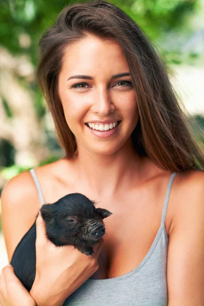
[[(81, 193), (71, 193), (40, 209), (47, 239), (56, 246), (73, 245), (91, 256), (92, 246), (105, 234), (103, 219), (112, 213), (95, 208), (95, 202)], [(37, 217), (36, 217), (37, 219)], [(24, 287), (30, 291), (36, 274), (36, 221), (17, 245), (11, 265)]]

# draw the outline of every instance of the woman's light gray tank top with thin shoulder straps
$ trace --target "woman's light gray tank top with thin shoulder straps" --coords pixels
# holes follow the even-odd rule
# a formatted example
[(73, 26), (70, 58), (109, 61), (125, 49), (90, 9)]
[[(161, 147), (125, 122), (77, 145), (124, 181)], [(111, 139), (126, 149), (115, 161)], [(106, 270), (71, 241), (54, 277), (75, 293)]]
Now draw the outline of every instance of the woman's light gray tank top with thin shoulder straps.
[[(44, 198), (34, 169), (35, 181), (41, 205)], [(143, 261), (132, 271), (108, 279), (87, 279), (65, 301), (63, 306), (167, 306), (168, 292), (166, 263), (168, 236), (165, 217), (169, 193), (176, 172), (171, 174), (162, 213), (161, 226)], [(127, 250), (128, 251), (128, 250)]]

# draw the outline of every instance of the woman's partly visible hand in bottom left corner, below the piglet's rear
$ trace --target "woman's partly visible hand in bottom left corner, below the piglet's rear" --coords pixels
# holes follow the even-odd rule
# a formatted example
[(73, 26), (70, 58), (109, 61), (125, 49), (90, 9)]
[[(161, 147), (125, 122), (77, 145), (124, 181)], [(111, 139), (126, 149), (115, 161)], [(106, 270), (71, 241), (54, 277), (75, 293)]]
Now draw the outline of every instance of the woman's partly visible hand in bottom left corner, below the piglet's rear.
[(6, 266), (2, 269), (0, 276), (0, 305), (36, 306), (32, 296), (16, 277), (12, 266)]

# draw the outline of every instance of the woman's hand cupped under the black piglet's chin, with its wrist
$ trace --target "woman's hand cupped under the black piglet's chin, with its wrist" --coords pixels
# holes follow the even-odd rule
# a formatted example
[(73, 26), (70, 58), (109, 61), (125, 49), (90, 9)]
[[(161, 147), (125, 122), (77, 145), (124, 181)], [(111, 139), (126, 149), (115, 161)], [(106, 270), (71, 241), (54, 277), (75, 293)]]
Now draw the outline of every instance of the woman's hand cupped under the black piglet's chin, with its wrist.
[(73, 246), (56, 247), (46, 238), (44, 221), (36, 220), (36, 277), (30, 291), (38, 306), (60, 306), (98, 269), (103, 239), (93, 246), (93, 256)]

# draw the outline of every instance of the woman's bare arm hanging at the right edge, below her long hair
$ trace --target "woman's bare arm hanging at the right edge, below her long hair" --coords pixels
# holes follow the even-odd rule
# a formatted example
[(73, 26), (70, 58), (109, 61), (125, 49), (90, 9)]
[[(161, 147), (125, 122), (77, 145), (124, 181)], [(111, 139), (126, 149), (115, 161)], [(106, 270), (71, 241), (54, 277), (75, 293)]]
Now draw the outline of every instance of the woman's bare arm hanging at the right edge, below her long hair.
[(185, 174), (174, 198), (176, 208), (169, 233), (168, 306), (203, 306), (204, 172)]

